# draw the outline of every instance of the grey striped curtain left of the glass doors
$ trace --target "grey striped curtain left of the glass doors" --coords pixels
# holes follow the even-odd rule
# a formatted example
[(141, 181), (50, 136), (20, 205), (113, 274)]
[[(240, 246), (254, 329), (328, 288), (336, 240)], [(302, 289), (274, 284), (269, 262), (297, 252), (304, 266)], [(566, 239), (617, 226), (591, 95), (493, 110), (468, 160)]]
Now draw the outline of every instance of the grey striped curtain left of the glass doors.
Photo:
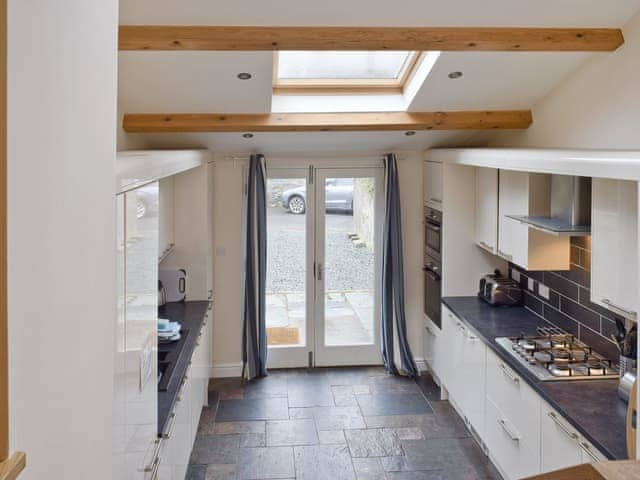
[(265, 190), (264, 156), (251, 155), (246, 201), (242, 334), (242, 376), (247, 379), (267, 375), (267, 334), (265, 326), (267, 209)]

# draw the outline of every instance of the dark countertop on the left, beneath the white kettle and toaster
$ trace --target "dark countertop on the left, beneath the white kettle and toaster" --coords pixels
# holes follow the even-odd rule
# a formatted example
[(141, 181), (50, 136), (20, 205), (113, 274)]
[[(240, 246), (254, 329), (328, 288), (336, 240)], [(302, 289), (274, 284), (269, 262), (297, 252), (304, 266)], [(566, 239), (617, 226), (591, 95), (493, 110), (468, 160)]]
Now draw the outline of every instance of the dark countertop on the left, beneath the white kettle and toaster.
[(174, 375), (176, 381), (169, 384), (167, 391), (158, 392), (158, 435), (161, 435), (166, 427), (169, 414), (176, 403), (176, 397), (182, 384), (182, 379), (189, 367), (189, 360), (196, 348), (196, 340), (204, 323), (204, 315), (207, 312), (209, 302), (170, 302), (158, 309), (162, 318), (168, 318), (174, 322), (180, 322), (183, 330), (188, 330), (184, 341), (184, 347), (180, 352)]

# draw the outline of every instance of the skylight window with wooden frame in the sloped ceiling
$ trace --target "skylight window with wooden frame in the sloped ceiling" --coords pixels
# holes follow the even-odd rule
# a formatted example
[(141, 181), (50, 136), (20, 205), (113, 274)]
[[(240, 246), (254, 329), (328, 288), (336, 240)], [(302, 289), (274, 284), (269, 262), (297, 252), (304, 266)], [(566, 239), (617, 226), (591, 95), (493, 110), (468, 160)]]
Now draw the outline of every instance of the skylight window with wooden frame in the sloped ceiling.
[(417, 59), (417, 52), (408, 51), (282, 51), (276, 57), (274, 89), (400, 93)]

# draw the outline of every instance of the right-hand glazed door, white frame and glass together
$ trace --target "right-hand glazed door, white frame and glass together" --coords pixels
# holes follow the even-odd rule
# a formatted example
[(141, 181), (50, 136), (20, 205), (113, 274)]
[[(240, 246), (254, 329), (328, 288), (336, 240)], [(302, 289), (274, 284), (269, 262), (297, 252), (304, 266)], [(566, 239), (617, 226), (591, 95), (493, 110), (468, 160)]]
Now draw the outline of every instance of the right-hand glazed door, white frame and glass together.
[(381, 169), (318, 170), (316, 365), (380, 363), (381, 193)]

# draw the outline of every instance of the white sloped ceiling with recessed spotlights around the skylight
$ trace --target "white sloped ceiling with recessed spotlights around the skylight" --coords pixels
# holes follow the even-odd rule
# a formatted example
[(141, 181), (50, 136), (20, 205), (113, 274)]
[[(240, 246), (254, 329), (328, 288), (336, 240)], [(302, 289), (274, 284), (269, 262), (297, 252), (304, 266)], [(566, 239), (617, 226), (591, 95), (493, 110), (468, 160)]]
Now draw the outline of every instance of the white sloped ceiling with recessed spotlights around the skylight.
[[(616, 26), (640, 0), (121, 0), (123, 24)], [(411, 111), (531, 108), (591, 55), (444, 52), (409, 104)], [(450, 80), (451, 71), (463, 77)], [(253, 78), (241, 81), (239, 72)], [(120, 113), (267, 113), (271, 52), (121, 52)], [(311, 101), (313, 100), (313, 101)], [(274, 101), (278, 110), (326, 110), (323, 99)], [(324, 99), (327, 100), (327, 99)], [(301, 107), (304, 103), (304, 107)], [(394, 109), (389, 99), (355, 99), (344, 110)], [(402, 104), (401, 101), (398, 104)], [(360, 105), (354, 108), (354, 105)], [(387, 105), (387, 108), (383, 108)], [(535, 122), (535, 118), (534, 118)], [(227, 152), (387, 151), (464, 146), (485, 133), (403, 132), (120, 135), (120, 147), (206, 147)]]

